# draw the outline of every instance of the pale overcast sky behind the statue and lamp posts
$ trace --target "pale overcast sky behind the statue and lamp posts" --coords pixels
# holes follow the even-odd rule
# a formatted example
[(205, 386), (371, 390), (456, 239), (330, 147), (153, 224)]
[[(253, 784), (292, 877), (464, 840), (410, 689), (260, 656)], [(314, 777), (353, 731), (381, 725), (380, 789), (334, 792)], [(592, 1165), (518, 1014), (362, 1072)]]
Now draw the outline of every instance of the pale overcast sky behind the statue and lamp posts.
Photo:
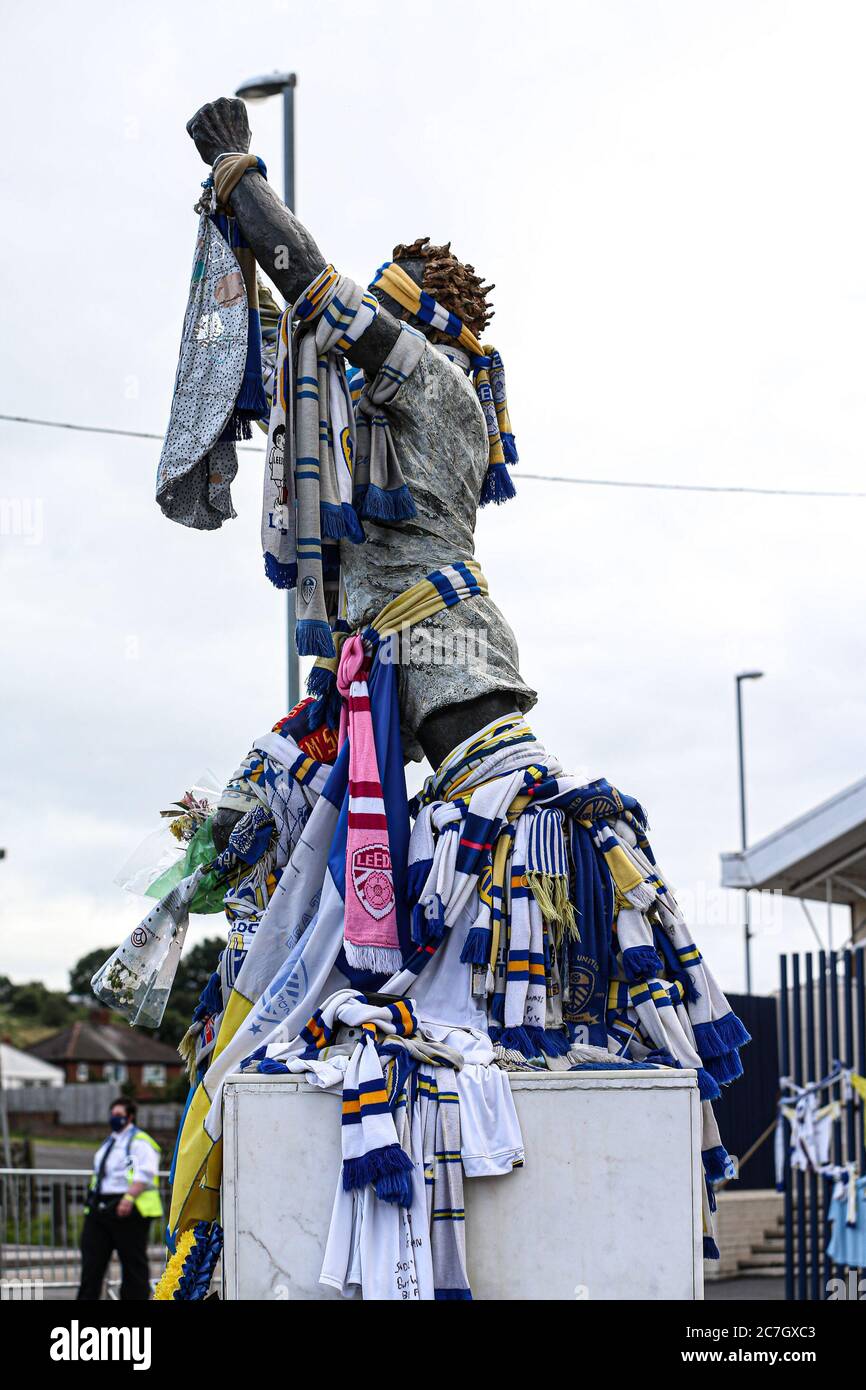
[[(525, 471), (866, 488), (862, 4), (54, 0), (7, 8), (4, 38), (1, 411), (164, 428), (204, 177), (185, 121), (279, 67), (329, 260), (367, 279), (424, 234), (496, 282)], [(278, 185), (279, 104), (250, 120)], [(197, 534), (153, 500), (154, 442), (0, 423), (0, 973), (63, 987), (142, 915), (113, 878), (160, 808), (285, 712), (285, 605), (260, 456), (238, 518)], [(738, 990), (740, 905), (717, 887), (734, 673), (767, 673), (745, 691), (759, 838), (865, 771), (866, 500), (518, 474), (477, 549), (534, 728), (644, 802)], [(762, 991), (783, 947), (813, 944), (799, 905), (770, 909)]]

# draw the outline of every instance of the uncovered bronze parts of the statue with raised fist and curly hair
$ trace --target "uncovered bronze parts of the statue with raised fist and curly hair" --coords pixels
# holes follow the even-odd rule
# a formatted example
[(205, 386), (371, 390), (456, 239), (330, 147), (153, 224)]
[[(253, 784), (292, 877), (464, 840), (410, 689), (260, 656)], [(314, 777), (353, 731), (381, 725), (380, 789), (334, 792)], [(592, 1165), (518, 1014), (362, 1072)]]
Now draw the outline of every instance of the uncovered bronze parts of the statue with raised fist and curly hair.
[[(243, 101), (228, 97), (203, 106), (188, 131), (206, 164), (228, 152), (246, 153), (250, 128)], [(256, 260), (288, 303), (293, 303), (325, 267), (325, 259), (303, 224), (277, 197), (268, 182), (247, 171), (231, 195), (231, 208)], [(399, 264), (416, 284), (430, 288), (445, 307), (481, 332), (489, 317), (488, 286), (449, 247), (421, 239), (398, 247)], [(375, 377), (407, 316), (392, 299), (348, 356)], [(366, 545), (341, 545), (341, 566), (352, 627), (370, 621), (398, 594), (431, 570), (473, 557), (473, 532), (481, 482), (487, 470), (487, 434), (475, 395), (463, 371), (436, 350), (442, 341), (425, 329), (425, 350), (402, 388), (392, 411), (399, 452), (417, 516), (402, 523), (364, 523)], [(478, 663), (411, 662), (400, 669), (400, 713), (407, 756), (424, 753), (435, 767), (464, 738), (489, 720), (535, 703), (535, 692), (520, 677), (514, 635), (488, 598), (470, 599), (459, 612), (428, 620), (438, 630), (481, 632), (484, 670)]]

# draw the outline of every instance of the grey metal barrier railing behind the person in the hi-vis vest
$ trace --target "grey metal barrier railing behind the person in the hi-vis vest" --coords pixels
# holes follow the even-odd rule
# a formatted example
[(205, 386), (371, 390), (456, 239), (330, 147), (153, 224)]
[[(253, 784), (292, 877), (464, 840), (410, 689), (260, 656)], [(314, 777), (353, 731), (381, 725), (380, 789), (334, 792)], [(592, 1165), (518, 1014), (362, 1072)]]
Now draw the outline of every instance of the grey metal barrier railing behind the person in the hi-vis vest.
[[(168, 1173), (160, 1173), (168, 1211)], [(0, 1297), (33, 1297), (28, 1290), (72, 1297), (81, 1280), (81, 1232), (90, 1172), (74, 1168), (0, 1168)], [(154, 1222), (152, 1236), (161, 1232)], [(152, 1280), (163, 1272), (165, 1251), (149, 1247)], [(117, 1298), (120, 1266), (113, 1257), (104, 1293)]]

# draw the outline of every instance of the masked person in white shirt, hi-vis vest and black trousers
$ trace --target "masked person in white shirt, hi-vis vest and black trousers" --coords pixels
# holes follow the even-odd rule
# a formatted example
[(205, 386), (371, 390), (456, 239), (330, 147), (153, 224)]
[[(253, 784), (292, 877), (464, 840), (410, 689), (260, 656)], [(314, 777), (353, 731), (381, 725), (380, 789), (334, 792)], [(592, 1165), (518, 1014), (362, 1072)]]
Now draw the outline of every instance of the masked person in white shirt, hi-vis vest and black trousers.
[(154, 1216), (163, 1215), (158, 1168), (160, 1145), (136, 1127), (132, 1101), (111, 1105), (111, 1133), (96, 1151), (81, 1234), (78, 1297), (99, 1300), (108, 1261), (121, 1262), (121, 1298), (150, 1297), (147, 1237)]

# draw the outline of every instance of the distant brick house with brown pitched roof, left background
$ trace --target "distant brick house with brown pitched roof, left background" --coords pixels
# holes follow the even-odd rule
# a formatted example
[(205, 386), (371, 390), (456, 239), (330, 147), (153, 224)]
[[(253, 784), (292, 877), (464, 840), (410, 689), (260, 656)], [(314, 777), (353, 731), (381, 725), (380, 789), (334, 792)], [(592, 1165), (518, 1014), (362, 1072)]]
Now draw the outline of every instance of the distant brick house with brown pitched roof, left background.
[(126, 1081), (139, 1097), (161, 1090), (181, 1074), (183, 1063), (172, 1047), (142, 1029), (96, 1019), (71, 1023), (28, 1048), (31, 1056), (63, 1068), (68, 1083)]

